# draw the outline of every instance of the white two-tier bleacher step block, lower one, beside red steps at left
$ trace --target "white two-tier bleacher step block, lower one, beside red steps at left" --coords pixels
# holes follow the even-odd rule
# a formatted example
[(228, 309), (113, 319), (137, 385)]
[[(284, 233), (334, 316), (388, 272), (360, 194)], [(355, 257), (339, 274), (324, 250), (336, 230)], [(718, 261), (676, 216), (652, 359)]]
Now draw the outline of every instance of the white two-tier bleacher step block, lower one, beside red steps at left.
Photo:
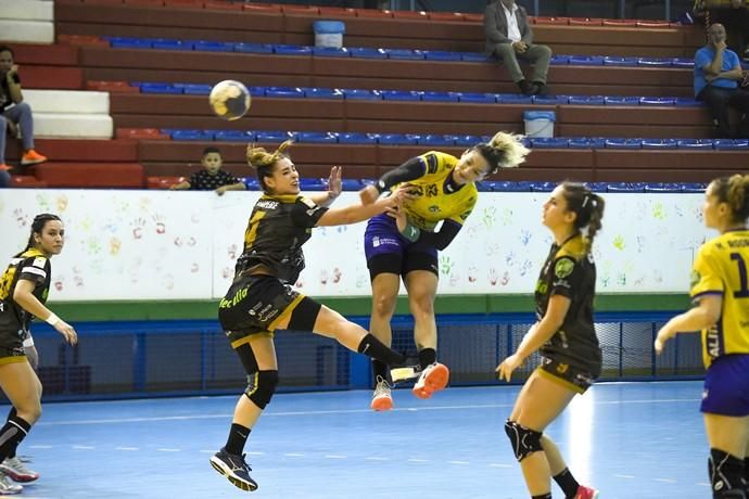
[(107, 92), (25, 90), (37, 137), (110, 139), (114, 124)]

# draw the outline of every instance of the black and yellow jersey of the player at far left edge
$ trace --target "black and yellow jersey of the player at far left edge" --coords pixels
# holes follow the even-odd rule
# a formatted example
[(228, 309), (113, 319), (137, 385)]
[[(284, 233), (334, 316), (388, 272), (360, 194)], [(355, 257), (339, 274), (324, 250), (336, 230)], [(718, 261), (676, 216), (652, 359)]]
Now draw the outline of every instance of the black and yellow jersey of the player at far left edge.
[(34, 296), (42, 304), (50, 289), (51, 265), (39, 250), (26, 250), (14, 256), (0, 278), (0, 332), (17, 333), (29, 329), (33, 316), (13, 299), (20, 280), (34, 282)]

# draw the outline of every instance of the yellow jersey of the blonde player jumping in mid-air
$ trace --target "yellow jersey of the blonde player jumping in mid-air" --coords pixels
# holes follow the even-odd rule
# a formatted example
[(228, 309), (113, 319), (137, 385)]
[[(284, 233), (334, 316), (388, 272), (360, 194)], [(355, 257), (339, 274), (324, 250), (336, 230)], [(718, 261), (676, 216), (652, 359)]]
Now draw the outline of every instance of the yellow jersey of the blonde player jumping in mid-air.
[(405, 203), (408, 220), (419, 229), (433, 231), (440, 220), (453, 220), (462, 226), (473, 210), (479, 191), (468, 183), (454, 188), (449, 181), (458, 158), (437, 151), (418, 156), (423, 166), (421, 177), (408, 180), (416, 185), (417, 197)]

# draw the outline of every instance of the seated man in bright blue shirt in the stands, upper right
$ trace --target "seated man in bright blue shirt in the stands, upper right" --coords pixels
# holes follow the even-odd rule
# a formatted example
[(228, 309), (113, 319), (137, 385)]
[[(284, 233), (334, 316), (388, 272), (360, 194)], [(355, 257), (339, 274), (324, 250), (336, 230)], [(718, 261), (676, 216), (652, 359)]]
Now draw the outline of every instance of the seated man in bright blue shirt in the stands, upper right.
[(695, 54), (695, 97), (710, 108), (715, 133), (720, 138), (738, 137), (731, 129), (728, 108), (749, 120), (749, 91), (739, 87), (744, 79), (738, 55), (725, 44), (725, 28), (713, 24), (708, 29), (708, 44)]

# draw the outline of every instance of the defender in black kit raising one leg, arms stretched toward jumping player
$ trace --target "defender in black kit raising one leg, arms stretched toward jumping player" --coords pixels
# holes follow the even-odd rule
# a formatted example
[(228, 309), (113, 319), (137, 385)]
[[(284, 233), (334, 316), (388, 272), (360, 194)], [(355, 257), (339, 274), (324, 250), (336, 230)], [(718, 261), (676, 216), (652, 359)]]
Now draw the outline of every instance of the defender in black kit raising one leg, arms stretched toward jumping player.
[(401, 354), (364, 328), (290, 284), (304, 269), (302, 245), (312, 236), (313, 228), (356, 223), (397, 209), (407, 196), (405, 190), (370, 205), (329, 209), (341, 193), (340, 168), (331, 171), (328, 192), (302, 196), (299, 172), (285, 154), (290, 145), (291, 141), (285, 141), (272, 153), (247, 148), (247, 163), (257, 171), (264, 194), (252, 210), (234, 281), (218, 308), (218, 320), (244, 366), (249, 386), (237, 402), (226, 446), (211, 458), (211, 464), (242, 490), (257, 488), (242, 451), (278, 384), (276, 330), (309, 331), (383, 362), (404, 361)]

